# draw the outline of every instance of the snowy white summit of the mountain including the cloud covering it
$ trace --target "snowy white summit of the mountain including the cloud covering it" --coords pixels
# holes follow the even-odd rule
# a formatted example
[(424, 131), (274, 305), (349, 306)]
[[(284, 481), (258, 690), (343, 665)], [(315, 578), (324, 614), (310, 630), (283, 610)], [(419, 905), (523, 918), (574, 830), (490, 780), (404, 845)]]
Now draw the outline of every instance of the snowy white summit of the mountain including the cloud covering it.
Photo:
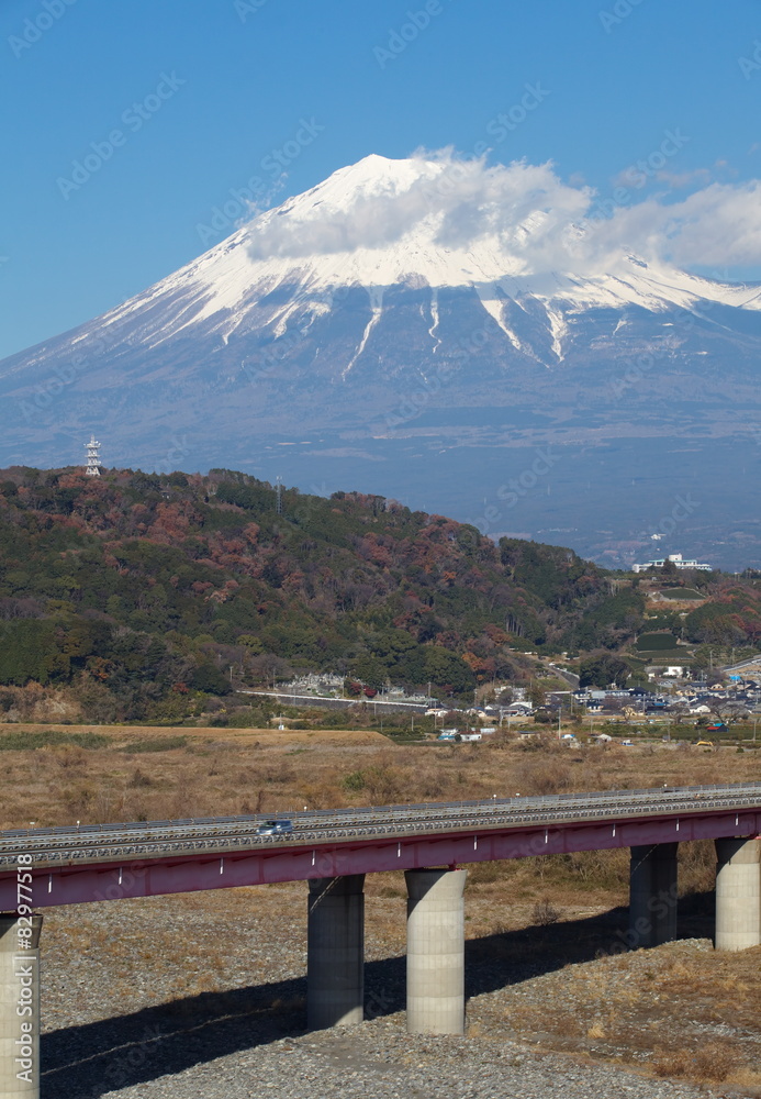
[(223, 338), (255, 298), (279, 286), (311, 299), (362, 286), (376, 311), (390, 286), (473, 287), (497, 322), (500, 301), (523, 295), (545, 301), (548, 315), (552, 302), (571, 311), (662, 311), (709, 298), (759, 308), (757, 289), (637, 254), (626, 243), (633, 210), (623, 211), (619, 231), (615, 218), (592, 217), (593, 198), (551, 164), (489, 167), (451, 149), (405, 159), (371, 154), (260, 213), (147, 297), (190, 293), (198, 306), (182, 326), (226, 313)]

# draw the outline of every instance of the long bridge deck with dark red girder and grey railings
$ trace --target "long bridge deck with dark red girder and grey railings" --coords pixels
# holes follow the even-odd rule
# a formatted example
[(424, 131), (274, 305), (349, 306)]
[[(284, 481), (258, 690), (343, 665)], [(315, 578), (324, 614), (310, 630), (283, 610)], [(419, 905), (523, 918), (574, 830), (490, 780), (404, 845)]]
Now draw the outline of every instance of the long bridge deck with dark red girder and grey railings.
[[(0, 833), (0, 911), (15, 909), (19, 855), (34, 906), (82, 903), (557, 852), (757, 835), (761, 782)], [(284, 814), (279, 814), (284, 815)]]

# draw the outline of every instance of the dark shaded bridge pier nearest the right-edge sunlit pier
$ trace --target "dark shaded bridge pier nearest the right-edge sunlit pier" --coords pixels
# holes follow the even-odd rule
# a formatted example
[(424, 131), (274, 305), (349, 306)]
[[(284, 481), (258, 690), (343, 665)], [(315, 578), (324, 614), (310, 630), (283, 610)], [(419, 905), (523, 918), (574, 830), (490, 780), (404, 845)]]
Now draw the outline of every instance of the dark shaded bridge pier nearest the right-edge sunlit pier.
[(660, 946), (676, 937), (678, 843), (631, 847), (629, 950)]

